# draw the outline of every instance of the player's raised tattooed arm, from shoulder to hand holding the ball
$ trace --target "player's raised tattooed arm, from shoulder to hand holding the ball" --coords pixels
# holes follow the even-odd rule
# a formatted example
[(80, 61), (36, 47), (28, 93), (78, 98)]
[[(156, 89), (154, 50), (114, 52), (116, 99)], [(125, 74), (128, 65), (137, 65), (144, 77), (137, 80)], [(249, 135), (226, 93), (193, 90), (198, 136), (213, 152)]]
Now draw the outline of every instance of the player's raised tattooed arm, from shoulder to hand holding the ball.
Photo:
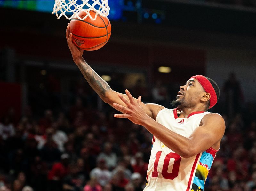
[[(72, 42), (72, 33), (69, 32), (69, 26), (67, 26), (66, 30), (66, 39), (68, 42), (68, 47), (71, 51), (72, 57), (82, 74), (84, 75), (84, 78), (87, 80), (87, 82), (90, 84), (90, 86), (93, 88), (93, 90), (100, 96), (100, 98), (105, 102), (108, 103), (113, 107), (113, 103), (118, 103), (122, 106), (126, 106), (124, 102), (120, 100), (118, 97), (118, 92), (112, 90), (108, 83), (104, 81), (84, 60), (82, 57), (83, 50), (79, 49), (73, 42)], [(126, 99), (128, 97), (125, 94), (122, 94)], [(134, 101), (137, 102), (136, 98), (133, 98)], [(156, 104), (144, 104), (142, 103), (142, 107), (144, 111), (147, 113), (148, 116), (151, 118), (155, 118), (157, 113), (155, 111), (160, 111), (163, 109), (163, 106), (156, 105)], [(117, 109), (117, 108), (116, 108)], [(119, 109), (117, 109), (119, 110)], [(121, 110), (119, 110), (121, 111)], [(152, 113), (154, 111), (154, 113)], [(122, 112), (122, 111), (121, 111)]]

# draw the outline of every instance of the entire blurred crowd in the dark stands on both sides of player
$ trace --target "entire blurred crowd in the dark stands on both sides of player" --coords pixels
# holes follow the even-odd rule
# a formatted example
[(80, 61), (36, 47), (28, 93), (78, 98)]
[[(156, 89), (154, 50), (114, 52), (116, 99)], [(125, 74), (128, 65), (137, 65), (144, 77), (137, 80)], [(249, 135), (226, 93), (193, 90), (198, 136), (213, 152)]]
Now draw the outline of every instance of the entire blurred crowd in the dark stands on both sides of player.
[[(224, 102), (227, 92), (241, 91), (238, 85), (231, 75), (222, 92)], [(38, 116), (27, 106), (18, 119), (12, 108), (6, 112), (0, 123), (0, 191), (143, 190), (152, 135), (128, 119), (114, 118), (116, 111), (108, 105), (99, 110), (97, 104), (89, 104), (95, 95), (86, 95), (83, 87), (77, 88), (67, 110), (46, 109)], [(118, 90), (118, 85), (111, 87)], [(168, 103), (169, 90), (160, 81), (151, 91), (142, 89), (138, 81), (133, 95)], [(226, 132), (205, 190), (256, 191), (255, 109), (231, 107), (230, 115), (216, 108), (225, 119)]]

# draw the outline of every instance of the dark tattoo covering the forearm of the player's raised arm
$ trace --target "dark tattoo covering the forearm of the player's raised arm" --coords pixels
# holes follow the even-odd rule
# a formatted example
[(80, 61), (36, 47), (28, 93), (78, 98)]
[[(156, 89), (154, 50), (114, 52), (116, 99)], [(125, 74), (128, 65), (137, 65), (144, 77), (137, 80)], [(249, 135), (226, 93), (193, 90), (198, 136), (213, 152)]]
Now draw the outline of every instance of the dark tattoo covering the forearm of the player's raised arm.
[(85, 61), (77, 64), (84, 75), (86, 81), (92, 89), (103, 98), (106, 98), (106, 92), (113, 92), (108, 83), (104, 81)]

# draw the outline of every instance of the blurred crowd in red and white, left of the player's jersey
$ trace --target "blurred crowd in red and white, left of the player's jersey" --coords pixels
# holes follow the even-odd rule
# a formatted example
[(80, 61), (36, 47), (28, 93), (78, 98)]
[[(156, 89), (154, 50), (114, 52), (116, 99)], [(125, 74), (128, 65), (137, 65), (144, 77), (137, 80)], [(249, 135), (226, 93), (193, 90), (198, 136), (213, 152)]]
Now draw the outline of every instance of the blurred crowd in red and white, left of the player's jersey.
[[(68, 118), (27, 108), (0, 123), (0, 190), (143, 190), (152, 136), (142, 126), (86, 110), (77, 99)], [(12, 112), (10, 112), (12, 113)]]

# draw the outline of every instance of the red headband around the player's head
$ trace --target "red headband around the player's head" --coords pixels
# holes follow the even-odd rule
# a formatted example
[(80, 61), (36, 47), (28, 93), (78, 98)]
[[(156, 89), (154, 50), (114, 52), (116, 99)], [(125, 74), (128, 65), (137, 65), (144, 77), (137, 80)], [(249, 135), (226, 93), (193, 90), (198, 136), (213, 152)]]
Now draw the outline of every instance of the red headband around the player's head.
[(195, 78), (201, 84), (201, 86), (203, 86), (205, 92), (211, 95), (209, 109), (212, 108), (217, 103), (217, 95), (211, 82), (202, 75), (192, 76), (191, 78)]

